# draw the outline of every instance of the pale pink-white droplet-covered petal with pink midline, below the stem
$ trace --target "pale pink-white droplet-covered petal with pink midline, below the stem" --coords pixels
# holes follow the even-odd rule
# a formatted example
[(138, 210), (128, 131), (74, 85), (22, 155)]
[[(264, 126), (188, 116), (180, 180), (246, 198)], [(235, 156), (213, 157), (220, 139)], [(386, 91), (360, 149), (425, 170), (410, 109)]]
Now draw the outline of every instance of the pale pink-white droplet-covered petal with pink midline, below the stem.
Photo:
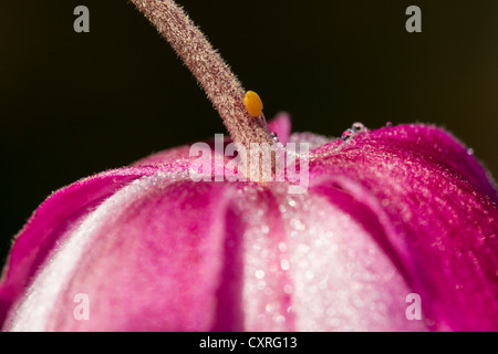
[(412, 291), (372, 238), (378, 222), (350, 217), (364, 210), (341, 191), (334, 197), (350, 208), (321, 190), (288, 195), (282, 184), (240, 201), (248, 225), (246, 329), (425, 331), (424, 322), (405, 317)]

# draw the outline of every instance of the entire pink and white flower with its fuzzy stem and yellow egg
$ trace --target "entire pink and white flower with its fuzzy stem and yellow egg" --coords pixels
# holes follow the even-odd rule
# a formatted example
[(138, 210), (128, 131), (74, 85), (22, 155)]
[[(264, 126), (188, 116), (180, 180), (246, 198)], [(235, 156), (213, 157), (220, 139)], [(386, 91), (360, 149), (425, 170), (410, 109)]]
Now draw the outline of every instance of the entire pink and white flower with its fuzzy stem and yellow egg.
[(50, 196), (3, 270), (3, 330), (498, 330), (498, 195), (470, 150), (430, 125), (267, 124), (181, 9), (133, 2), (231, 138)]

